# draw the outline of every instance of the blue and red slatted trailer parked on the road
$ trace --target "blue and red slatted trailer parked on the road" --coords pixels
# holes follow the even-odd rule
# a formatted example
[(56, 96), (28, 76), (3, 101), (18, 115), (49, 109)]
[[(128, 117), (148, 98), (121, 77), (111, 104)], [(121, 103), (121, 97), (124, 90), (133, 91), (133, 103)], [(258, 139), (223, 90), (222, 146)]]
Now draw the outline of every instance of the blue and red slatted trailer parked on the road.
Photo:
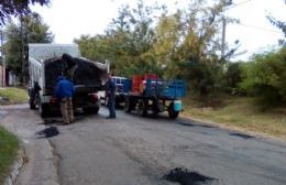
[(156, 75), (135, 75), (123, 83), (125, 112), (136, 111), (142, 117), (167, 111), (176, 119), (182, 110), (182, 98), (186, 95), (184, 80), (158, 79)]

